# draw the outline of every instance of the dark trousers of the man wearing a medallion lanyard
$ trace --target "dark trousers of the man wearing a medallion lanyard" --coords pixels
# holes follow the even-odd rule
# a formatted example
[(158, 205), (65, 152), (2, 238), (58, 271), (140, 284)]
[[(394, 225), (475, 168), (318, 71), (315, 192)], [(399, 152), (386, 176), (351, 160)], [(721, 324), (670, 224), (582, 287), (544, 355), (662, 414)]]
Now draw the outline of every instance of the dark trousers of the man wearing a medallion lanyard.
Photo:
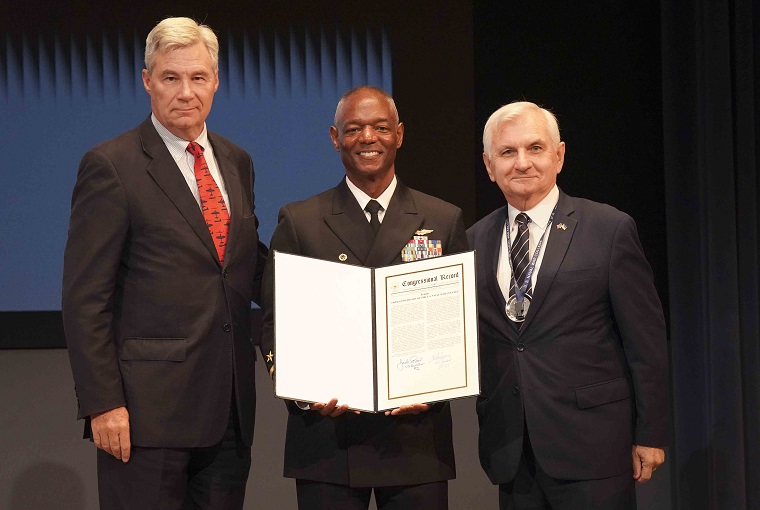
[(601, 480), (558, 480), (536, 461), (527, 429), (524, 438), (515, 479), (499, 485), (500, 510), (636, 510), (633, 466)]

